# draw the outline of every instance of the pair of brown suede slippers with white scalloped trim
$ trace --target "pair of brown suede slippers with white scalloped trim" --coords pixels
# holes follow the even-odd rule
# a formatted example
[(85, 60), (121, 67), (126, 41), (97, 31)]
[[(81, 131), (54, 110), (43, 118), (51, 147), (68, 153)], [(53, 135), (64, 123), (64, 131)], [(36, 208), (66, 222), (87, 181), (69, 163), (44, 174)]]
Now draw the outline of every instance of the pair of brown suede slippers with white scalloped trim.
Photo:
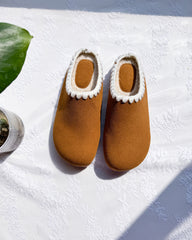
[[(74, 166), (94, 159), (100, 140), (102, 66), (97, 54), (78, 51), (67, 70), (53, 127), (58, 153)], [(108, 166), (127, 171), (138, 166), (150, 146), (145, 78), (133, 54), (120, 56), (110, 79), (103, 149)]]

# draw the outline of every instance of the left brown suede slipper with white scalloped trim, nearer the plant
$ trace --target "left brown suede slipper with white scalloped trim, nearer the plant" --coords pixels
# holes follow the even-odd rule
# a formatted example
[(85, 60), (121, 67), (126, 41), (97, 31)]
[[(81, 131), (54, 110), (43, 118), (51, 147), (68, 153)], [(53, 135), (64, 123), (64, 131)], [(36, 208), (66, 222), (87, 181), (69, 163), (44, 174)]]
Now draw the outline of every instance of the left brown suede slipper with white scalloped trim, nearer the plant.
[(53, 127), (58, 153), (75, 166), (89, 165), (97, 152), (102, 79), (98, 56), (88, 50), (78, 51), (63, 83)]

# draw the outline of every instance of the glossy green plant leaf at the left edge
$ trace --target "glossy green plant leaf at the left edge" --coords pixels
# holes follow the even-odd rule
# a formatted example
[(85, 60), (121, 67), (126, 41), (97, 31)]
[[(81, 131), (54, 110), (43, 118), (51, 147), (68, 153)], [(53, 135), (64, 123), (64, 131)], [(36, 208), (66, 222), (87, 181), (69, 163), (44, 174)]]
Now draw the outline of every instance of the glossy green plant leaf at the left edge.
[(0, 23), (0, 93), (19, 75), (33, 37), (9, 23)]

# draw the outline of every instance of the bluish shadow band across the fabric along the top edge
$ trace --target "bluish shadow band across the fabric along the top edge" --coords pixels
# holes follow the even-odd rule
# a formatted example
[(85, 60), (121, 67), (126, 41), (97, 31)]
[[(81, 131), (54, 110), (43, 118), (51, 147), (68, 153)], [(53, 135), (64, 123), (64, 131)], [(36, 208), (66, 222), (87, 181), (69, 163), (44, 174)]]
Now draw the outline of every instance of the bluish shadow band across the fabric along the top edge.
[(142, 15), (192, 16), (191, 0), (0, 0), (0, 6), (92, 12), (124, 12)]

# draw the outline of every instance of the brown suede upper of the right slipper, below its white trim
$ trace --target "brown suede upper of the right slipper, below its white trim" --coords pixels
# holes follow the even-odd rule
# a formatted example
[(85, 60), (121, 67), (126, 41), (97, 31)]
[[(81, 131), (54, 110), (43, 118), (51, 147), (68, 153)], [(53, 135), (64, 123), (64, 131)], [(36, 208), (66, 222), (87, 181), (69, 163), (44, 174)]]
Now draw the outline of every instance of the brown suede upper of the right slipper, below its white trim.
[(109, 94), (103, 143), (105, 159), (114, 170), (126, 171), (144, 160), (150, 145), (147, 91), (132, 104)]

